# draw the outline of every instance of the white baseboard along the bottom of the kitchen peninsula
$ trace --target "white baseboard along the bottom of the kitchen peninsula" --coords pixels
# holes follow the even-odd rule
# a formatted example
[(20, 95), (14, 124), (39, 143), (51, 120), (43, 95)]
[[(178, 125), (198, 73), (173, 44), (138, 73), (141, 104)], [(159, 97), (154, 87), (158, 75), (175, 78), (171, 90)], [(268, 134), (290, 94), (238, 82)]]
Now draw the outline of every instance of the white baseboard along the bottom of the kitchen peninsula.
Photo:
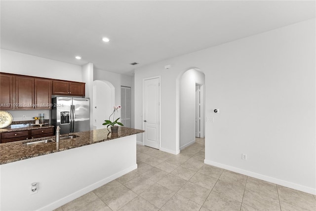
[(122, 176), (122, 175), (124, 175), (132, 170), (135, 170), (135, 169), (137, 169), (137, 164), (135, 164), (134, 166), (131, 166), (127, 169), (121, 170), (118, 173), (115, 173), (107, 178), (104, 178), (98, 182), (95, 182), (95, 183), (93, 183), (85, 188), (82, 188), (81, 190), (79, 190), (75, 193), (72, 193), (72, 194), (70, 194), (70, 195), (68, 195), (68, 196), (66, 196), (66, 197), (64, 197), (56, 202), (53, 202), (45, 207), (42, 207), (39, 209), (39, 211), (55, 210), (55, 209), (65, 205), (65, 204), (67, 204), (68, 202), (71, 202), (71, 201), (77, 199), (78, 197), (83, 196), (84, 194), (89, 193), (89, 192), (101, 187), (102, 185), (105, 185), (105, 184), (117, 179), (118, 177), (120, 177), (120, 176)]

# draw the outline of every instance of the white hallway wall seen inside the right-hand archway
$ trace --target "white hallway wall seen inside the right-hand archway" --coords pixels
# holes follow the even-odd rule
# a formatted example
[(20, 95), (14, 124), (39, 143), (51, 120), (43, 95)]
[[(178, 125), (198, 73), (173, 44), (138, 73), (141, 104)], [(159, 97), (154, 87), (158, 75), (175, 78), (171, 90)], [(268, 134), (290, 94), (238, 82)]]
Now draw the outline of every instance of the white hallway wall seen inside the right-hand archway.
[[(204, 74), (195, 69), (186, 71), (180, 79), (180, 149), (196, 139), (196, 83), (204, 84)], [(203, 109), (203, 108), (202, 108)]]

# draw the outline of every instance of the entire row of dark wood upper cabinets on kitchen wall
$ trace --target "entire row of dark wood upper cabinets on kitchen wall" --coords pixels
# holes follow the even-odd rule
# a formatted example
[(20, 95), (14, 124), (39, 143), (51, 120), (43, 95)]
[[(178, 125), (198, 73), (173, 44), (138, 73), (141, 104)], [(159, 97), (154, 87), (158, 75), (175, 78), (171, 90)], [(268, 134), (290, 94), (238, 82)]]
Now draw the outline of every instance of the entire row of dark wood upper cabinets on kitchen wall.
[(0, 73), (0, 110), (51, 109), (51, 95), (84, 97), (85, 83)]

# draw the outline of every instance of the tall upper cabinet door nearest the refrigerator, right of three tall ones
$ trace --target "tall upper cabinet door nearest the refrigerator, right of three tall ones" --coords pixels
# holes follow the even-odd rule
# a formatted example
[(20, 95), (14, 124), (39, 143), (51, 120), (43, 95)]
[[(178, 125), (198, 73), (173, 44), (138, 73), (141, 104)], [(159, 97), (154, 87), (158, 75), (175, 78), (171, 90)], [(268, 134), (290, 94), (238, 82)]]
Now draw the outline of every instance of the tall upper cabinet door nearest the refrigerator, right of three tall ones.
[(34, 99), (36, 109), (50, 109), (51, 82), (51, 80), (47, 79), (34, 79)]

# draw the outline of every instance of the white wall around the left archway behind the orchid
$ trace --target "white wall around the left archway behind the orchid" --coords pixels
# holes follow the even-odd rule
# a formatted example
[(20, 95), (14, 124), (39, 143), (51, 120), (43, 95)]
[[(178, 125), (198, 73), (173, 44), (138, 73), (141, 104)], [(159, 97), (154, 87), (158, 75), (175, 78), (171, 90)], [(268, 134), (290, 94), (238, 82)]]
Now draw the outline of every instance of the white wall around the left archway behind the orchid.
[[(112, 73), (109, 71), (103, 71), (99, 69), (94, 69), (93, 73), (93, 80), (101, 80), (101, 81), (108, 81), (111, 84), (113, 84), (115, 88), (115, 104), (113, 106), (120, 105), (120, 86), (129, 86), (131, 87), (131, 91), (134, 91), (132, 77), (127, 75), (121, 75), (117, 73)], [(104, 97), (110, 97), (110, 96), (104, 96)], [(132, 96), (133, 97), (133, 96)], [(133, 100), (133, 99), (132, 99)], [(132, 101), (133, 102), (133, 101)], [(132, 111), (133, 113), (133, 111)], [(120, 117), (120, 110), (118, 110), (118, 113), (116, 113), (117, 117)], [(108, 118), (107, 118), (108, 119)], [(134, 127), (134, 124), (132, 122), (131, 127)], [(137, 127), (135, 127), (137, 128)], [(141, 127), (138, 127), (140, 129)]]

